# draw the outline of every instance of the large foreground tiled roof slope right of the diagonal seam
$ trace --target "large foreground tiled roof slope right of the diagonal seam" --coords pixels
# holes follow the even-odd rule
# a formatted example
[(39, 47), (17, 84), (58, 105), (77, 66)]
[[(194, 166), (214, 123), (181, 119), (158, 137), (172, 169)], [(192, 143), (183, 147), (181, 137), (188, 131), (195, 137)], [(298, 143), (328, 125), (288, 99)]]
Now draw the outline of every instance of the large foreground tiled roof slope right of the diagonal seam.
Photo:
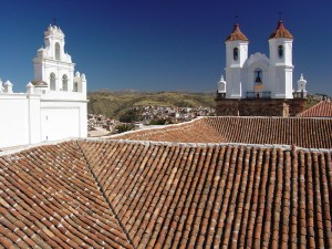
[[(331, 152), (127, 142), (80, 146), (92, 170), (103, 172), (101, 179), (112, 177), (112, 185), (101, 185), (114, 193), (110, 203), (135, 247), (332, 246)], [(115, 147), (118, 155), (95, 162)]]

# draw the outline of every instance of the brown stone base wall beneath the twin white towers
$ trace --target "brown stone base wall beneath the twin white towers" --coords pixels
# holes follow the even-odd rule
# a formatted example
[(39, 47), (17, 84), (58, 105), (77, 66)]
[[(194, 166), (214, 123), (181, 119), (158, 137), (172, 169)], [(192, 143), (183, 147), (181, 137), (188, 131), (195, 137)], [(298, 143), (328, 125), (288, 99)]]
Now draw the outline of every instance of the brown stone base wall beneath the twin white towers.
[(304, 111), (305, 100), (216, 98), (218, 116), (295, 116)]

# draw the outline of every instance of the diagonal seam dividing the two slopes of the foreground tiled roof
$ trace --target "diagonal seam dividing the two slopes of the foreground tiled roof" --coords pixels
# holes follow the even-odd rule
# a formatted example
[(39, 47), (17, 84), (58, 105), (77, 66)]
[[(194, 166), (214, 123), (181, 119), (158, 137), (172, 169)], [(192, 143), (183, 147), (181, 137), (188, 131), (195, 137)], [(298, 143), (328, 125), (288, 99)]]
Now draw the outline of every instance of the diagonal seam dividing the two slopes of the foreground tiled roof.
[(81, 147), (80, 143), (79, 143), (80, 139), (76, 139), (75, 141), (75, 144), (77, 145), (79, 149), (82, 152), (82, 155), (84, 157), (84, 159), (86, 160), (86, 166), (87, 166), (87, 169), (90, 172), (90, 174), (92, 175), (92, 177), (94, 178), (96, 185), (97, 185), (97, 189), (101, 191), (101, 195), (103, 196), (104, 200), (106, 201), (106, 204), (108, 205), (108, 207), (111, 208), (113, 215), (114, 215), (114, 218), (117, 220), (118, 225), (121, 226), (121, 228), (123, 229), (123, 232), (125, 234), (128, 242), (131, 243), (131, 246), (133, 248), (136, 248), (133, 243), (133, 240), (128, 234), (128, 231), (126, 230), (125, 226), (123, 225), (123, 222), (121, 221), (121, 219), (118, 218), (117, 216), (117, 212), (115, 211), (115, 209), (113, 208), (112, 204), (110, 203), (110, 200), (107, 199), (106, 195), (105, 195), (105, 191), (104, 191), (104, 188), (103, 186), (101, 185), (101, 183), (98, 181), (98, 178), (97, 176), (94, 174), (94, 172), (92, 170), (92, 167), (90, 165), (90, 162), (87, 159), (87, 157), (85, 156), (85, 153), (84, 153), (84, 149)]

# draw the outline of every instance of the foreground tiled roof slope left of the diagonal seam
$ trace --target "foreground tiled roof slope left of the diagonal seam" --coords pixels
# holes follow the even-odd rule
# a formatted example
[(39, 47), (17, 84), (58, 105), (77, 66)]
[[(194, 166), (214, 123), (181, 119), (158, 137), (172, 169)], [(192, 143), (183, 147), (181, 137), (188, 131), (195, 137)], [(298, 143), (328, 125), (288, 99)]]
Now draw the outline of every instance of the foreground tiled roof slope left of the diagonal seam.
[(0, 157), (0, 248), (133, 248), (76, 142)]

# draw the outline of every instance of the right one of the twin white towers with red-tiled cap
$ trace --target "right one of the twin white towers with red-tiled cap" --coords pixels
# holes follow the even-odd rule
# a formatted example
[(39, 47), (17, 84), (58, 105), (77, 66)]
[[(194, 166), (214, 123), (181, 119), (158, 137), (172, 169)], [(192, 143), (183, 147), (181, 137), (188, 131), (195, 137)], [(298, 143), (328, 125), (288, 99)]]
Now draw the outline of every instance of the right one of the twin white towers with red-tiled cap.
[(274, 84), (271, 85), (273, 98), (292, 98), (293, 63), (292, 63), (292, 34), (284, 28), (283, 22), (278, 22), (277, 29), (269, 38), (270, 49), (270, 76)]

